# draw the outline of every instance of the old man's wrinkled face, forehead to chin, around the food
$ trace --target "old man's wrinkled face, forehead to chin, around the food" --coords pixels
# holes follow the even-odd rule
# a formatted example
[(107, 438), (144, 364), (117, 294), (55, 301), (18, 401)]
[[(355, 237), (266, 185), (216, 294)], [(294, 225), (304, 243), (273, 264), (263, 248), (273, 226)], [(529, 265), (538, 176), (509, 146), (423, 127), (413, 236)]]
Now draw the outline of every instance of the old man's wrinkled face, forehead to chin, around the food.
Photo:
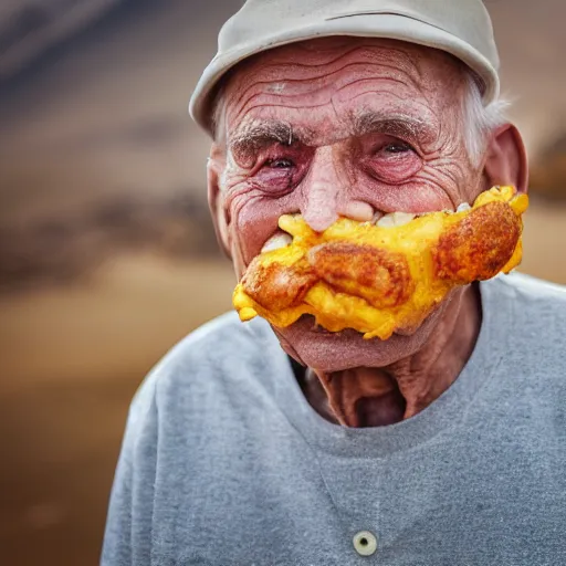
[[(298, 212), (322, 231), (339, 216), (365, 221), (473, 201), (486, 187), (465, 150), (464, 94), (462, 69), (449, 55), (394, 41), (316, 40), (240, 66), (226, 90), (216, 211), (237, 274), (281, 214)], [(411, 336), (386, 342), (325, 333), (311, 317), (275, 332), (316, 369), (384, 366), (419, 349), (446, 307)]]

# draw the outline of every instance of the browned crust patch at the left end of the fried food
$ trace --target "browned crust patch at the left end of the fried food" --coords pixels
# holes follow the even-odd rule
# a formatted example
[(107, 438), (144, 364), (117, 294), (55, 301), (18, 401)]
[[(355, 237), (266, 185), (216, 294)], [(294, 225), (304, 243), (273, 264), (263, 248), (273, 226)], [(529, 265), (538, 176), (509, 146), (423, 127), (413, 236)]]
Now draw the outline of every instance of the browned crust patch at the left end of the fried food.
[(245, 271), (242, 285), (258, 304), (276, 312), (301, 304), (317, 279), (304, 260), (293, 265), (276, 262), (265, 265), (259, 255)]

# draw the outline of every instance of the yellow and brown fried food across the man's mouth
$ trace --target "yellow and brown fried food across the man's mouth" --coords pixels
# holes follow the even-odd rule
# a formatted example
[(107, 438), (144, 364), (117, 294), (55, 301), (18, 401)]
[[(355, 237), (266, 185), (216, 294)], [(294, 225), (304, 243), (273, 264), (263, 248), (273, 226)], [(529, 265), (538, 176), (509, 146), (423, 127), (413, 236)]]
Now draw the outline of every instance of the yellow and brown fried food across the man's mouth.
[(260, 315), (279, 327), (310, 314), (327, 331), (354, 328), (364, 338), (411, 332), (452, 289), (518, 265), (527, 207), (526, 195), (494, 187), (468, 210), (402, 226), (340, 218), (315, 232), (301, 216), (283, 216), (292, 242), (250, 263), (234, 307), (242, 321)]

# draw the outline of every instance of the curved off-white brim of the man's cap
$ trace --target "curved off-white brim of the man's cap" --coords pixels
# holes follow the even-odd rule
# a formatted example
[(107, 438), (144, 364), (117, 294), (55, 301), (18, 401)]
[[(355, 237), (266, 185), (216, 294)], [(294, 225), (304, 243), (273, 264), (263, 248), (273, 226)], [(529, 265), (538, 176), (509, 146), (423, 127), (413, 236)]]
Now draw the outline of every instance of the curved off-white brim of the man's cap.
[(446, 51), (465, 63), (483, 83), (484, 104), (499, 96), (500, 82), (490, 61), (469, 43), (430, 23), (395, 13), (356, 13), (297, 27), (273, 38), (251, 38), (238, 51), (217, 55), (205, 70), (192, 93), (189, 113), (202, 128), (211, 134), (210, 95), (220, 78), (238, 63), (258, 53), (297, 41), (352, 35), (407, 41)]

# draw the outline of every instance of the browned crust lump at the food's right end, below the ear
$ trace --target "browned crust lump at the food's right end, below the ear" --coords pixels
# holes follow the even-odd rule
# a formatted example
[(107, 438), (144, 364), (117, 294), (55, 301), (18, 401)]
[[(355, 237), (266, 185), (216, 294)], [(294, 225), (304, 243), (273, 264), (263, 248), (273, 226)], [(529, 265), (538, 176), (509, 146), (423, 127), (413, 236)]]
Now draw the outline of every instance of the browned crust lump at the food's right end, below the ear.
[(437, 277), (458, 284), (495, 276), (521, 238), (521, 220), (505, 202), (489, 202), (449, 228), (433, 250)]

